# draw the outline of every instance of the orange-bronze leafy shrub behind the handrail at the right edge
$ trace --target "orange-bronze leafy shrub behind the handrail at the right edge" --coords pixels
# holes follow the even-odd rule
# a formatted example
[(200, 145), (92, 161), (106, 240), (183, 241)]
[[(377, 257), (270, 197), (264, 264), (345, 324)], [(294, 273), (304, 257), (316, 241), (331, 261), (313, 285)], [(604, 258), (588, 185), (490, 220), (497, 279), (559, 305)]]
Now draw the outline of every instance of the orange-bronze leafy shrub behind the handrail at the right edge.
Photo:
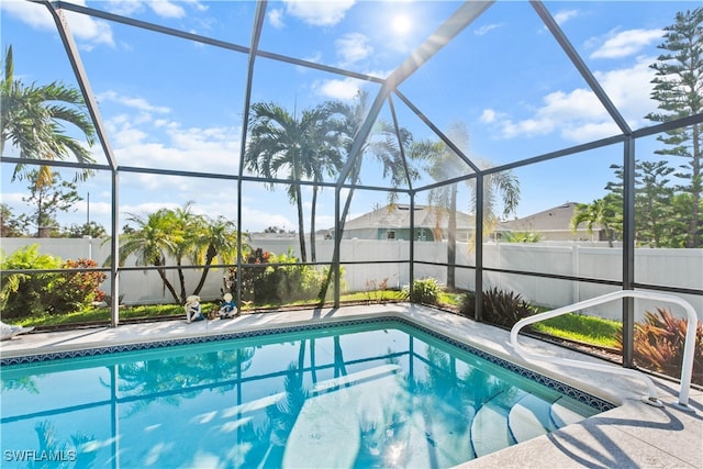
[[(688, 321), (676, 317), (668, 309), (657, 308), (657, 313), (647, 311), (644, 322), (635, 324), (635, 362), (645, 369), (678, 378), (681, 376)], [(703, 325), (701, 322), (698, 323), (695, 333), (692, 382), (703, 384)], [(617, 343), (622, 349), (622, 333), (617, 335)]]

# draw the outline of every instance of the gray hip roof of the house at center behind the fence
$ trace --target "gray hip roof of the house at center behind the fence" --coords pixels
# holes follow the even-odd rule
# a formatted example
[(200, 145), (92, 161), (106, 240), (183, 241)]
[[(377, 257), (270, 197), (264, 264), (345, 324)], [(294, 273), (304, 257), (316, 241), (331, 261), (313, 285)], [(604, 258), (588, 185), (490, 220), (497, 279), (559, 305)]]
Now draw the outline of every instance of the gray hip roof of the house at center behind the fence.
[[(446, 228), (449, 216), (447, 210), (436, 205), (415, 205), (415, 227), (417, 228)], [(457, 230), (472, 230), (473, 216), (457, 212)], [(410, 227), (410, 205), (395, 203), (381, 206), (372, 212), (349, 220), (345, 223), (345, 230), (361, 228), (408, 228)]]

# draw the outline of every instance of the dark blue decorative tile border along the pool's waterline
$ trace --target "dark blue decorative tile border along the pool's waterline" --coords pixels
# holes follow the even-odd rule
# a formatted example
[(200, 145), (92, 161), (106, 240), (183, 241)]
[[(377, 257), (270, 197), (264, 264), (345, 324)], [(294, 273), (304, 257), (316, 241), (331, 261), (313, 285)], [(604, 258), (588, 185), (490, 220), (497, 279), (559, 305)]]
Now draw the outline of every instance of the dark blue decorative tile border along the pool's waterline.
[(399, 317), (399, 316), (373, 316), (373, 317), (364, 317), (364, 319), (354, 319), (354, 320), (313, 322), (313, 323), (300, 324), (300, 325), (274, 326), (266, 330), (239, 331), (239, 332), (233, 332), (233, 333), (226, 333), (226, 334), (213, 334), (213, 335), (205, 335), (205, 336), (198, 336), (198, 337), (174, 338), (174, 339), (154, 340), (154, 342), (146, 342), (146, 343), (93, 347), (93, 348), (86, 348), (80, 350), (65, 350), (65, 351), (52, 351), (52, 353), (36, 354), (36, 355), (24, 355), (24, 356), (16, 356), (16, 357), (0, 358), (0, 367), (38, 364), (44, 361), (52, 361), (52, 360), (59, 360), (59, 359), (67, 359), (67, 358), (99, 357), (102, 355), (116, 354), (121, 351), (148, 350), (148, 349), (164, 348), (164, 347), (170, 347), (176, 345), (194, 345), (194, 344), (204, 344), (204, 343), (212, 343), (212, 342), (220, 342), (220, 340), (233, 340), (233, 339), (239, 339), (239, 338), (267, 337), (267, 336), (272, 336), (277, 334), (300, 333), (305, 331), (316, 331), (321, 328), (355, 326), (355, 325), (365, 325), (365, 324), (379, 324), (379, 323), (402, 324), (408, 327), (414, 328), (416, 331), (421, 331), (436, 339), (439, 339), (464, 351), (468, 351), (469, 354), (476, 355), (487, 361), (490, 361), (493, 365), (507, 369), (532, 381), (538, 382), (539, 384), (543, 384), (561, 394), (568, 395), (569, 398), (572, 398), (583, 404), (587, 404), (593, 409), (596, 409), (600, 412), (605, 412), (615, 407), (614, 404), (601, 398), (598, 398), (595, 395), (581, 391), (577, 388), (573, 388), (572, 386), (557, 381), (553, 378), (545, 377), (527, 368), (521, 367), (505, 359), (499, 358), (494, 355), (480, 350), (471, 345), (465, 344), (451, 337), (447, 337), (442, 333), (434, 331), (433, 328), (417, 324), (405, 317)]

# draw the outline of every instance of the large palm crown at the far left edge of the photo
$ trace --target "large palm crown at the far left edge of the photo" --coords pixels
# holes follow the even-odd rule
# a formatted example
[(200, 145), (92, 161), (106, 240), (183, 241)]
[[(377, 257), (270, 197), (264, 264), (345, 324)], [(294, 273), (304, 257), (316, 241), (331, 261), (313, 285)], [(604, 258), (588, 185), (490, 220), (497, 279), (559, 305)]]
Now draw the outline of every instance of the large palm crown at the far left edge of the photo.
[[(89, 147), (94, 144), (96, 130), (87, 113), (80, 91), (60, 82), (45, 86), (25, 86), (14, 79), (12, 46), (4, 59), (4, 76), (0, 83), (0, 152), (4, 154), (5, 142), (29, 159), (66, 159), (74, 156), (80, 164), (94, 163)], [(71, 124), (86, 136), (88, 147), (76, 138), (64, 134), (65, 124)], [(90, 175), (83, 169), (76, 175), (85, 180)], [(14, 168), (12, 178), (24, 176), (24, 165)], [(37, 186), (51, 183), (48, 166), (40, 167)]]

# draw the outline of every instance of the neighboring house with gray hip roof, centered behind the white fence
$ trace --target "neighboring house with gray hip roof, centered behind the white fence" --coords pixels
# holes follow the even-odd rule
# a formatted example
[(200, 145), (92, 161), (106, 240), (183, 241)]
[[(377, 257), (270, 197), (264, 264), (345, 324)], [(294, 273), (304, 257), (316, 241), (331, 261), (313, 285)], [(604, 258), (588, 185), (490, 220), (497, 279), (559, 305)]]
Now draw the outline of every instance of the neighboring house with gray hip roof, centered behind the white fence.
[[(446, 209), (434, 205), (415, 205), (415, 241), (443, 241), (447, 238), (449, 214)], [(473, 232), (473, 216), (456, 212), (457, 241), (468, 241)], [(410, 241), (410, 205), (391, 204), (381, 206), (344, 225), (344, 239), (403, 239)]]

